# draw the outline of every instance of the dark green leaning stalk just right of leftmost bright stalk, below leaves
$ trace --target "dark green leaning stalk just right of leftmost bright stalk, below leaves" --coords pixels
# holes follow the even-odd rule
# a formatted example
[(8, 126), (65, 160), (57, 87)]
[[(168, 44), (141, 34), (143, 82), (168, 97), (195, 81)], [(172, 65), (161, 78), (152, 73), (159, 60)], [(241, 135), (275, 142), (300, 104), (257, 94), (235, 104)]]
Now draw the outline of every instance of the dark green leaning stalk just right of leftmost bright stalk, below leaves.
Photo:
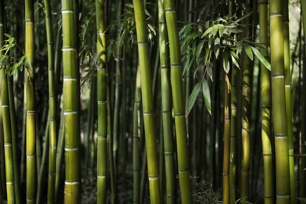
[(14, 162), (14, 188), (15, 188), (15, 203), (21, 203), (20, 198), (20, 180), (19, 180), (19, 161), (18, 161), (18, 145), (17, 145), (17, 124), (15, 113), (15, 101), (14, 101), (14, 87), (13, 77), (8, 76), (8, 89), (9, 89), (9, 103), (10, 103), (10, 115), (11, 115), (11, 127), (12, 127), (12, 145), (13, 145), (13, 162)]

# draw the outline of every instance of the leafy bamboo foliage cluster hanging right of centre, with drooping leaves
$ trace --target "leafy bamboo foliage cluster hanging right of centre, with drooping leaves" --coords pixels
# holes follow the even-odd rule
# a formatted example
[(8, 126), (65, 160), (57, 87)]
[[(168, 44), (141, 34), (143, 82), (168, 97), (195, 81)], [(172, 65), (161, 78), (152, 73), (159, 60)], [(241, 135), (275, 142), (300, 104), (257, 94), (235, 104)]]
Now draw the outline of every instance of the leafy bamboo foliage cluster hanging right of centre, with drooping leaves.
[[(242, 32), (243, 24), (239, 24), (241, 20), (249, 17), (247, 13), (235, 21), (228, 17), (219, 17), (216, 20), (208, 20), (203, 25), (190, 22), (180, 31), (181, 50), (185, 67), (183, 74), (190, 69), (193, 62), (196, 64), (194, 77), (199, 69), (205, 69), (204, 75), (207, 73), (213, 80), (213, 64), (219, 60), (226, 73), (230, 71), (231, 63), (240, 68), (240, 57), (244, 50), (247, 56), (253, 60), (254, 55), (270, 70), (270, 63), (262, 56), (255, 47), (265, 48), (259, 43), (249, 40), (249, 38), (239, 38)], [(202, 30), (205, 30), (202, 32)], [(218, 69), (218, 67), (215, 67)], [(204, 79), (204, 76), (200, 76)], [(206, 83), (205, 83), (206, 84)], [(197, 85), (196, 85), (197, 86)], [(195, 103), (194, 98), (197, 97), (197, 88), (194, 87), (188, 100), (186, 114), (190, 112)], [(204, 94), (209, 94), (209, 88), (205, 88)], [(204, 95), (206, 106), (210, 112), (210, 96)]]

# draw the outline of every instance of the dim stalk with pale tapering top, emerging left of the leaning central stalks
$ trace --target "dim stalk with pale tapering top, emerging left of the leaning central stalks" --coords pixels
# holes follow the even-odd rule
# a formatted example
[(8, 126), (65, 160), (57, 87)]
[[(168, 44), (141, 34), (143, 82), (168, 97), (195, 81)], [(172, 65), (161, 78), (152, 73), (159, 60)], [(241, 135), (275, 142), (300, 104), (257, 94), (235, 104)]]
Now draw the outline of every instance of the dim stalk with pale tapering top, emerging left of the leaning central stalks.
[(133, 203), (140, 203), (140, 117), (141, 117), (140, 68), (137, 68), (133, 113)]

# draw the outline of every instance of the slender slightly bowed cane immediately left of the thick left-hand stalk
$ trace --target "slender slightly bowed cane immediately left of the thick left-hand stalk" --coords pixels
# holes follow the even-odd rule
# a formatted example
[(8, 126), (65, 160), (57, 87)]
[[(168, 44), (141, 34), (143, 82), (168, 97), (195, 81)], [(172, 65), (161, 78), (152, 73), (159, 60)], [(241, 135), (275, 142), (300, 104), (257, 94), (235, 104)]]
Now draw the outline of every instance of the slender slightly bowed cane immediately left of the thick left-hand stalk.
[(56, 113), (57, 97), (55, 90), (55, 67), (54, 67), (54, 45), (53, 25), (50, 0), (44, 0), (46, 34), (48, 48), (48, 83), (49, 83), (49, 169), (48, 169), (48, 203), (55, 203), (55, 173), (56, 173)]

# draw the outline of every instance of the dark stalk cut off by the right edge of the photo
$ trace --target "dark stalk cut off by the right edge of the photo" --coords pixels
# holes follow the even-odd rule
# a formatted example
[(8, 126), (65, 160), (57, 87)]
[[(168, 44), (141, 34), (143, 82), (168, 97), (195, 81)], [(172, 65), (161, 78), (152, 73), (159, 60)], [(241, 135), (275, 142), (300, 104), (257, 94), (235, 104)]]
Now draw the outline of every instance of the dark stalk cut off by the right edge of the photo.
[[(301, 1), (301, 12), (302, 12), (302, 21), (303, 21), (303, 28), (306, 28), (306, 2)], [(303, 29), (304, 32), (304, 40), (306, 39), (306, 29)], [(304, 44), (304, 55), (306, 56), (306, 45)], [(303, 58), (305, 59), (305, 57)], [(303, 95), (302, 95), (302, 113), (301, 113), (301, 146), (300, 146), (300, 154), (306, 153), (306, 147), (305, 147), (305, 135), (306, 135), (306, 65), (303, 61)], [(305, 197), (306, 196), (306, 159), (305, 157), (300, 158), (300, 177), (299, 177), (299, 197)], [(306, 202), (301, 202), (306, 203)]]

